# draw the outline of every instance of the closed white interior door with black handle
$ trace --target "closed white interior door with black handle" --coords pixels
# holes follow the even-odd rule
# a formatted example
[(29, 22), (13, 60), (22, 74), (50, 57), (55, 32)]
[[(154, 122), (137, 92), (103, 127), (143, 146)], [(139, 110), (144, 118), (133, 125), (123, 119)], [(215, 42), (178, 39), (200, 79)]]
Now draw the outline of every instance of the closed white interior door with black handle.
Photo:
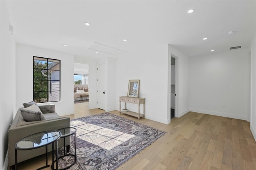
[(97, 106), (106, 110), (106, 64), (97, 65)]

